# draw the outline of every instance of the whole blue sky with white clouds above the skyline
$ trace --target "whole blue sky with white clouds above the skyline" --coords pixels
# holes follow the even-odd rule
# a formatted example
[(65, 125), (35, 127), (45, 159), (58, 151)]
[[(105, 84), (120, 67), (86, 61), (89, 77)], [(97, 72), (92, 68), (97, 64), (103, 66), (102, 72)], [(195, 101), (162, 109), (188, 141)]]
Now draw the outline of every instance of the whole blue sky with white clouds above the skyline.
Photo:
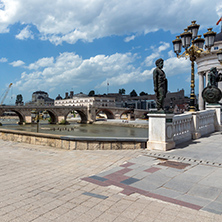
[(158, 58), (168, 90), (189, 95), (191, 64), (172, 41), (192, 20), (220, 32), (221, 16), (219, 0), (0, 0), (0, 100), (10, 83), (5, 104), (37, 90), (153, 94)]

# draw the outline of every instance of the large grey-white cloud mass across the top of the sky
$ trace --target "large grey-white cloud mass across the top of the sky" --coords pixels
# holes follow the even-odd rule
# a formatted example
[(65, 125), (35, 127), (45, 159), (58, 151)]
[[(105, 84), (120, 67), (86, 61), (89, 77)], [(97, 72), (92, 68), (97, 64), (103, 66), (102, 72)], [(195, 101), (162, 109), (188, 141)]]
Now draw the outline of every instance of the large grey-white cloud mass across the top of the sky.
[[(206, 28), (215, 24), (221, 14), (218, 0), (1, 0), (0, 32), (8, 32), (10, 25), (20, 22), (36, 26), (41, 39), (74, 44), (78, 40), (146, 34), (159, 29), (181, 32), (181, 27), (194, 18)], [(32, 36), (27, 29), (19, 35)], [(130, 38), (133, 35), (125, 40)]]

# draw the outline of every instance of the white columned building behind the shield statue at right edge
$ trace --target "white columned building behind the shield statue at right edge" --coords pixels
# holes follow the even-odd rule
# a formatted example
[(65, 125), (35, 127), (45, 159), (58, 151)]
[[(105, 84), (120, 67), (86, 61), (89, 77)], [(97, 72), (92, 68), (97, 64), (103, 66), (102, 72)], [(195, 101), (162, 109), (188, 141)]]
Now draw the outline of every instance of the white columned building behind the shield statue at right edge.
[[(216, 67), (218, 73), (222, 72), (222, 65), (217, 58), (217, 52), (222, 48), (222, 32), (218, 33), (215, 37), (214, 46), (211, 48), (209, 54), (202, 54), (196, 59), (197, 72), (199, 76), (199, 109), (205, 109), (205, 102), (202, 97), (203, 89), (208, 83), (208, 73), (212, 67)], [(222, 82), (218, 83), (218, 88), (222, 91)]]

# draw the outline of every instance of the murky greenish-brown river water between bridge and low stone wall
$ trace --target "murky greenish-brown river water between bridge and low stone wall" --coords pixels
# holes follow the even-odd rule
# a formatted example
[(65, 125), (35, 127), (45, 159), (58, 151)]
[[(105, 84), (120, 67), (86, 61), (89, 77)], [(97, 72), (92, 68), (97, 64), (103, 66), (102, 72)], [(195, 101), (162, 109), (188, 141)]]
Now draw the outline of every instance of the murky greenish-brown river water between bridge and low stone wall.
[[(0, 119), (2, 126), (0, 129), (13, 129), (19, 131), (36, 132), (36, 124), (18, 125), (18, 119)], [(143, 124), (147, 124), (144, 122)], [(127, 125), (127, 124), (126, 124)], [(40, 121), (40, 133), (57, 135), (85, 136), (85, 137), (129, 137), (129, 138), (148, 138), (147, 128), (136, 128), (130, 126), (79, 124), (53, 125), (47, 121)]]

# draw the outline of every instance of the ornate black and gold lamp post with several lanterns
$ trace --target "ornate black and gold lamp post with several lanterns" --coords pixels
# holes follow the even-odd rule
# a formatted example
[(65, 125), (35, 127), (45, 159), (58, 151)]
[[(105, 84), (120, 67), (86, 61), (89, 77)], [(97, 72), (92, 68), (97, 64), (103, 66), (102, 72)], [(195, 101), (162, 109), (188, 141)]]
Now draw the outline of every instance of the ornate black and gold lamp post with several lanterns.
[[(214, 38), (216, 32), (213, 32), (211, 28), (208, 29), (208, 32), (204, 33), (204, 39), (198, 35), (198, 29), (200, 25), (196, 24), (196, 21), (192, 21), (192, 24), (188, 26), (187, 29), (184, 29), (184, 32), (177, 36), (173, 41), (174, 52), (178, 58), (185, 57), (190, 58), (191, 61), (191, 92), (190, 92), (190, 112), (195, 111), (195, 77), (194, 77), (194, 61), (201, 54), (210, 53), (211, 47), (214, 45)], [(205, 42), (205, 48), (203, 49)], [(185, 51), (182, 55), (181, 48), (184, 48)], [(219, 57), (219, 56), (218, 56)], [(222, 52), (221, 52), (221, 61), (222, 61)]]

